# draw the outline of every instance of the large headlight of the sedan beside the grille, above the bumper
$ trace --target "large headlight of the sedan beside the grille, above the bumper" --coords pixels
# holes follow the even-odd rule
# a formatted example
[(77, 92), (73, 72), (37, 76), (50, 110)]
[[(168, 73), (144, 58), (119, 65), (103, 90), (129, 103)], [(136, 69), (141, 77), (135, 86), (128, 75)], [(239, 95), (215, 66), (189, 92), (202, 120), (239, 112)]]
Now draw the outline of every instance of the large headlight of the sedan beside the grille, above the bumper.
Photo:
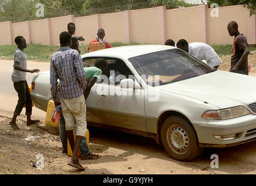
[(244, 106), (236, 106), (222, 110), (207, 110), (202, 115), (202, 119), (207, 120), (227, 120), (235, 117), (250, 115), (251, 113)]

